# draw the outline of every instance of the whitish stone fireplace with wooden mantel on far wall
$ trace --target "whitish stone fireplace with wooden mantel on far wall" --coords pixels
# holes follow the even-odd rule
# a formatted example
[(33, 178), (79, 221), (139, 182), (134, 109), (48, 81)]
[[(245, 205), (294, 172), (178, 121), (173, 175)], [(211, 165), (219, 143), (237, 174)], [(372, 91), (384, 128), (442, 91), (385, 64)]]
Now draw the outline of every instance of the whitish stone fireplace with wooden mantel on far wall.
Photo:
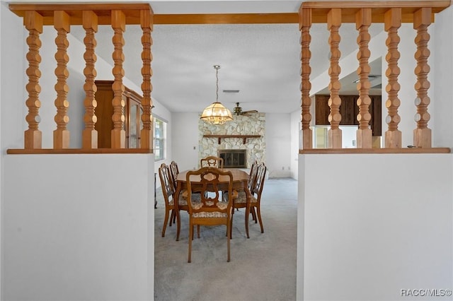
[[(245, 162), (237, 168), (250, 168), (255, 160), (258, 163), (265, 162), (265, 113), (255, 113), (250, 116), (233, 115), (231, 122), (222, 125), (207, 124), (200, 120), (198, 135), (199, 159), (209, 155), (219, 157), (221, 152), (229, 151), (227, 158), (234, 161), (239, 160), (239, 155), (236, 153), (239, 151), (243, 153), (241, 156), (245, 158)], [(224, 158), (224, 164), (225, 160)], [(234, 164), (237, 164), (236, 161)]]

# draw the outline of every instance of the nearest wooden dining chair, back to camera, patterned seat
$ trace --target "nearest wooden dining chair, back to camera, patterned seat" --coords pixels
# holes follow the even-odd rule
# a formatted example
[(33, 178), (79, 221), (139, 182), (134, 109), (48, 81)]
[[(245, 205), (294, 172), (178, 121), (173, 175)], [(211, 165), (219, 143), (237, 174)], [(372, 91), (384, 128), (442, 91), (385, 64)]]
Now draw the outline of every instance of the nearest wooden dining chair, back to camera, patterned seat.
[[(197, 180), (194, 179), (197, 178)], [(192, 179), (192, 182), (191, 182)], [(219, 170), (215, 167), (202, 167), (190, 170), (186, 175), (188, 186), (189, 212), (189, 254), (192, 256), (193, 227), (197, 225), (226, 225), (227, 260), (230, 261), (231, 226), (233, 223), (233, 201), (231, 197), (222, 199), (221, 192), (233, 192), (233, 175), (230, 171)], [(194, 202), (192, 195), (200, 194), (200, 202)]]

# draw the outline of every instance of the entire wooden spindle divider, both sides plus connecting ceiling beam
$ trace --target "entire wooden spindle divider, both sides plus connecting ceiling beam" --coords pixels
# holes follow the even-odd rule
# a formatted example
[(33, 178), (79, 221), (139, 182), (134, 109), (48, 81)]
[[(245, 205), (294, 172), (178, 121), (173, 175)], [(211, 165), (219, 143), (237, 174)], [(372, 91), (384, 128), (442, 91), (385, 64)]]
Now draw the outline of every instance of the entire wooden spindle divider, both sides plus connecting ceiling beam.
[[(38, 129), (40, 123), (39, 109), (41, 107), (40, 102), (40, 90), (39, 79), (41, 72), (39, 65), (41, 57), (39, 54), (41, 41), (40, 34), (42, 33), (43, 25), (54, 25), (57, 29), (57, 54), (55, 59), (57, 60), (57, 69), (55, 74), (57, 75), (57, 84), (55, 90), (57, 90), (57, 100), (55, 105), (57, 107), (57, 115), (55, 116), (55, 122), (57, 122), (57, 130), (55, 131), (54, 137), (54, 148), (64, 148), (69, 146), (69, 131), (67, 131), (67, 123), (69, 118), (67, 117), (67, 39), (66, 35), (69, 33), (71, 25), (83, 25), (86, 30), (86, 38), (84, 43), (86, 45), (86, 52), (84, 58), (86, 60), (86, 67), (84, 74), (86, 81), (84, 90), (86, 98), (84, 107), (86, 114), (84, 115), (85, 129), (83, 131), (83, 142), (82, 147), (85, 150), (93, 150), (97, 148), (96, 136), (97, 132), (94, 129), (96, 123), (96, 99), (93, 95), (96, 92), (96, 85), (93, 84), (96, 78), (96, 39), (94, 33), (96, 33), (97, 26), (99, 25), (111, 25), (114, 31), (113, 35), (113, 60), (115, 66), (113, 67), (113, 76), (115, 83), (113, 84), (113, 90), (115, 92), (115, 98), (113, 99), (113, 105), (115, 112), (113, 114), (113, 122), (115, 124), (112, 130), (112, 144), (115, 151), (119, 151), (125, 147), (125, 133), (124, 133), (124, 102), (120, 100), (120, 94), (124, 90), (122, 85), (122, 78), (124, 76), (124, 70), (122, 64), (124, 61), (124, 54), (122, 47), (124, 46), (123, 33), (125, 33), (126, 25), (128, 24), (139, 24), (142, 26), (142, 90), (143, 90), (143, 114), (142, 123), (143, 128), (141, 130), (142, 141), (140, 146), (144, 150), (151, 151), (152, 145), (152, 118), (151, 118), (151, 31), (154, 24), (154, 20), (159, 20), (160, 24), (181, 24), (181, 23), (198, 23), (198, 24), (213, 24), (213, 23), (297, 23), (299, 22), (299, 30), (301, 31), (301, 93), (302, 93), (302, 132), (304, 140), (302, 146), (304, 149), (312, 148), (311, 142), (311, 129), (309, 128), (311, 122), (311, 99), (309, 92), (311, 90), (311, 83), (309, 81), (311, 68), (310, 58), (311, 52), (309, 45), (311, 42), (311, 35), (309, 30), (312, 23), (326, 23), (328, 30), (330, 30), (330, 37), (328, 44), (331, 48), (330, 58), (330, 69), (328, 74), (330, 76), (329, 90), (330, 100), (329, 106), (331, 112), (329, 114), (329, 122), (331, 123), (331, 129), (328, 134), (329, 148), (341, 148), (341, 131), (339, 124), (341, 121), (341, 114), (339, 111), (341, 105), (341, 99), (339, 91), (341, 88), (339, 76), (340, 76), (340, 35), (339, 28), (342, 23), (356, 23), (359, 34), (357, 42), (359, 44), (359, 53), (357, 58), (358, 69), (357, 73), (360, 76), (360, 84), (358, 90), (360, 93), (360, 109), (357, 117), (360, 119), (360, 126), (362, 127), (359, 131), (365, 131), (365, 127), (369, 124), (369, 103), (367, 95), (369, 90), (369, 33), (367, 28), (371, 24), (371, 20), (374, 23), (384, 23), (384, 28), (388, 32), (388, 38), (386, 45), (388, 47), (388, 53), (386, 61), (388, 68), (386, 75), (389, 78), (389, 83), (386, 85), (389, 98), (386, 101), (386, 107), (388, 108), (387, 124), (389, 129), (386, 131), (385, 146), (386, 148), (394, 149), (401, 148), (401, 131), (398, 131), (398, 123), (401, 117), (398, 115), (398, 107), (400, 100), (398, 99), (398, 91), (400, 89), (398, 83), (398, 75), (400, 70), (398, 68), (398, 59), (400, 53), (398, 52), (398, 28), (401, 26), (401, 22), (413, 23), (413, 27), (417, 30), (417, 37), (415, 37), (415, 44), (417, 45), (417, 51), (415, 52), (415, 59), (417, 61), (417, 67), (415, 68), (415, 75), (417, 76), (417, 82), (415, 83), (415, 90), (417, 98), (415, 105), (417, 107), (417, 114), (415, 119), (417, 121), (417, 128), (414, 130), (414, 146), (420, 149), (431, 148), (431, 130), (428, 129), (428, 121), (430, 120), (430, 114), (428, 113), (428, 105), (430, 98), (428, 97), (428, 89), (430, 83), (428, 81), (428, 73), (430, 66), (428, 65), (428, 58), (430, 52), (428, 50), (428, 41), (430, 36), (428, 34), (428, 26), (433, 20), (435, 13), (442, 11), (450, 5), (449, 0), (437, 0), (437, 1), (313, 1), (302, 3), (299, 9), (299, 18), (297, 14), (292, 16), (291, 14), (282, 16), (270, 16), (266, 14), (232, 14), (231, 16), (222, 15), (210, 15), (209, 18), (200, 18), (197, 16), (176, 16), (176, 15), (158, 15), (158, 18), (154, 18), (154, 13), (147, 4), (10, 4), (11, 11), (21, 16), (24, 21), (25, 28), (28, 30), (28, 69), (26, 71), (28, 75), (28, 83), (26, 90), (28, 92), (28, 99), (25, 104), (28, 107), (28, 114), (25, 120), (28, 122), (28, 129), (24, 133), (24, 150), (30, 150), (29, 153), (33, 153), (33, 150), (42, 148), (42, 133)], [(371, 11), (371, 18), (369, 18), (369, 11)], [(295, 17), (295, 18), (293, 18)], [(405, 54), (407, 55), (407, 54)], [(368, 96), (368, 98), (367, 98)], [(368, 108), (368, 111), (367, 111)], [(369, 148), (369, 134), (359, 135), (361, 138), (357, 138), (362, 149)], [(360, 142), (360, 140), (362, 142)], [(412, 150), (414, 151), (414, 150)], [(104, 151), (103, 151), (104, 152)], [(8, 153), (21, 153), (11, 152)], [(23, 152), (26, 153), (26, 152)], [(43, 152), (37, 152), (43, 153)]]

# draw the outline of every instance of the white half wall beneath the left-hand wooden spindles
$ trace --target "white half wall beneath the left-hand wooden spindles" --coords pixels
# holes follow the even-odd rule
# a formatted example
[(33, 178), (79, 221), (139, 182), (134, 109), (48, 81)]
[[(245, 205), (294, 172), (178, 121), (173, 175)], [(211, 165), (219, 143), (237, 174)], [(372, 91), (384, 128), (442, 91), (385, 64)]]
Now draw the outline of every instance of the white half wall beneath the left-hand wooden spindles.
[(4, 300), (152, 300), (154, 155), (4, 158)]

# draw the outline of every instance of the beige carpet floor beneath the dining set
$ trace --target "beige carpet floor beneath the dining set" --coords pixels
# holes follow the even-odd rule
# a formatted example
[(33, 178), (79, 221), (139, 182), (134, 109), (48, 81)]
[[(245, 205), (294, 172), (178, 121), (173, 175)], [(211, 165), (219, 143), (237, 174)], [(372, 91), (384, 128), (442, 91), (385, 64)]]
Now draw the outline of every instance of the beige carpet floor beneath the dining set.
[(250, 220), (246, 238), (244, 209), (234, 213), (231, 261), (226, 262), (225, 226), (202, 227), (193, 240), (188, 264), (188, 216), (164, 223), (164, 201), (157, 189), (154, 231), (154, 300), (296, 300), (297, 181), (266, 179), (261, 215), (264, 233)]

